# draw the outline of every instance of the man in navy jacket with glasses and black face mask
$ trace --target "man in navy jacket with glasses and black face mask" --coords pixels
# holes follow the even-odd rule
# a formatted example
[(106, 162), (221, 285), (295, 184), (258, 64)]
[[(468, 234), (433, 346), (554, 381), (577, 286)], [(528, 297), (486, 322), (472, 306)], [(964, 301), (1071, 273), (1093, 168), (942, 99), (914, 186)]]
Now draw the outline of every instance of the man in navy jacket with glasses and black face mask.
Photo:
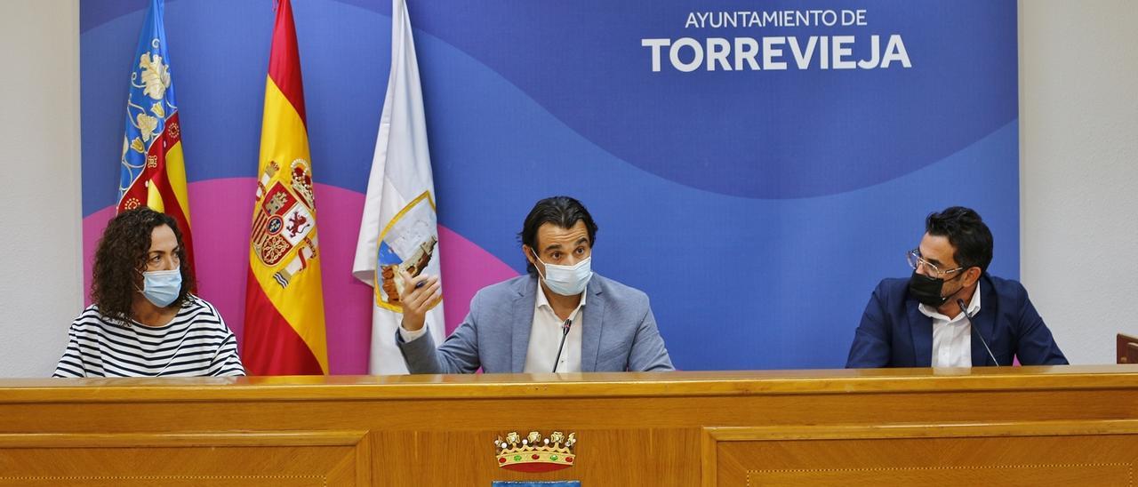
[(991, 259), (992, 234), (976, 212), (929, 215), (908, 253), (913, 275), (877, 284), (846, 366), (1011, 365), (1013, 356), (1066, 364), (1023, 284), (988, 274)]

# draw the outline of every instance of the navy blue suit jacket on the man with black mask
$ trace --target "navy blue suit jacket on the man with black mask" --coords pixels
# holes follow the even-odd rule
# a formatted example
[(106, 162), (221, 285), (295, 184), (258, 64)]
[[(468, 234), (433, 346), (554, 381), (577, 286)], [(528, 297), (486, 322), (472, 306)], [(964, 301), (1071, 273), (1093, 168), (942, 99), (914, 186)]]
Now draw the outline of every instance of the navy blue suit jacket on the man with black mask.
[[(909, 296), (908, 279), (885, 279), (869, 297), (853, 335), (849, 369), (931, 366), (932, 319), (921, 314)], [(980, 313), (972, 317), (972, 365), (996, 365), (976, 339), (981, 333), (998, 365), (1017, 356), (1023, 365), (1063, 365), (1066, 357), (1028, 299), (1023, 284), (984, 273), (980, 278)]]

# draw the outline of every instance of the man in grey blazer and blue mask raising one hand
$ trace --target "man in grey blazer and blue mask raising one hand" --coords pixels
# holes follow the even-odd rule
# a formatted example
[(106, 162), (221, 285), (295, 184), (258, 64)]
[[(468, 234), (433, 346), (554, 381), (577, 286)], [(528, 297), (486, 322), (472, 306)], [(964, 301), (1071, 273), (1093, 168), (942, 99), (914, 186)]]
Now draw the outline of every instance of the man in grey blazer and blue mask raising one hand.
[(424, 317), (438, 278), (402, 274), (395, 341), (411, 373), (674, 370), (648, 296), (592, 272), (596, 224), (580, 201), (538, 201), (519, 237), (529, 272), (479, 290), (437, 349)]

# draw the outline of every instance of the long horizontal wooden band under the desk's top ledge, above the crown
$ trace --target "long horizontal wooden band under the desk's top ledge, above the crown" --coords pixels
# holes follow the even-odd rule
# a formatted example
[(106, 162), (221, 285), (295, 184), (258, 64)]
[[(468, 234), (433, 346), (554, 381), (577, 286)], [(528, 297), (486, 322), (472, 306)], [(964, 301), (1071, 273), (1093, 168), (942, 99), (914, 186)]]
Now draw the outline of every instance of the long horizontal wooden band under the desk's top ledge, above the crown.
[[(1120, 365), (1122, 366), (1122, 365)], [(1133, 365), (1125, 365), (1127, 368)], [(60, 402), (7, 404), (0, 432), (232, 430), (432, 430), (479, 428), (701, 428), (805, 423), (968, 422), (1138, 418), (1127, 388), (1028, 391), (751, 395), (711, 397), (480, 398), (421, 401)], [(0, 382), (2, 383), (2, 382)], [(319, 387), (313, 387), (319, 389)], [(299, 397), (304, 390), (296, 393)], [(558, 415), (551, 420), (551, 415)], [(178, 418), (171, 421), (170, 418)], [(129, 419), (129, 421), (124, 420)], [(493, 440), (493, 437), (490, 437)]]

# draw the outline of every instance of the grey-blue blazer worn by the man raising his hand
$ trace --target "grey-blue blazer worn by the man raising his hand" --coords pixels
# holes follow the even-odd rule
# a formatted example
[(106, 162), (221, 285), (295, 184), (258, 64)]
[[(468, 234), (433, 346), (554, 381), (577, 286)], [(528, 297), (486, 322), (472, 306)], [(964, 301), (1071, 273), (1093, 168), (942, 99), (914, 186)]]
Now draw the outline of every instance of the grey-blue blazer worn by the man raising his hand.
[[(435, 348), (426, 333), (395, 342), (411, 373), (521, 372), (534, 323), (537, 276), (487, 286), (470, 300), (470, 314)], [(588, 281), (582, 329), (582, 372), (670, 371), (671, 360), (648, 295), (594, 273)]]

